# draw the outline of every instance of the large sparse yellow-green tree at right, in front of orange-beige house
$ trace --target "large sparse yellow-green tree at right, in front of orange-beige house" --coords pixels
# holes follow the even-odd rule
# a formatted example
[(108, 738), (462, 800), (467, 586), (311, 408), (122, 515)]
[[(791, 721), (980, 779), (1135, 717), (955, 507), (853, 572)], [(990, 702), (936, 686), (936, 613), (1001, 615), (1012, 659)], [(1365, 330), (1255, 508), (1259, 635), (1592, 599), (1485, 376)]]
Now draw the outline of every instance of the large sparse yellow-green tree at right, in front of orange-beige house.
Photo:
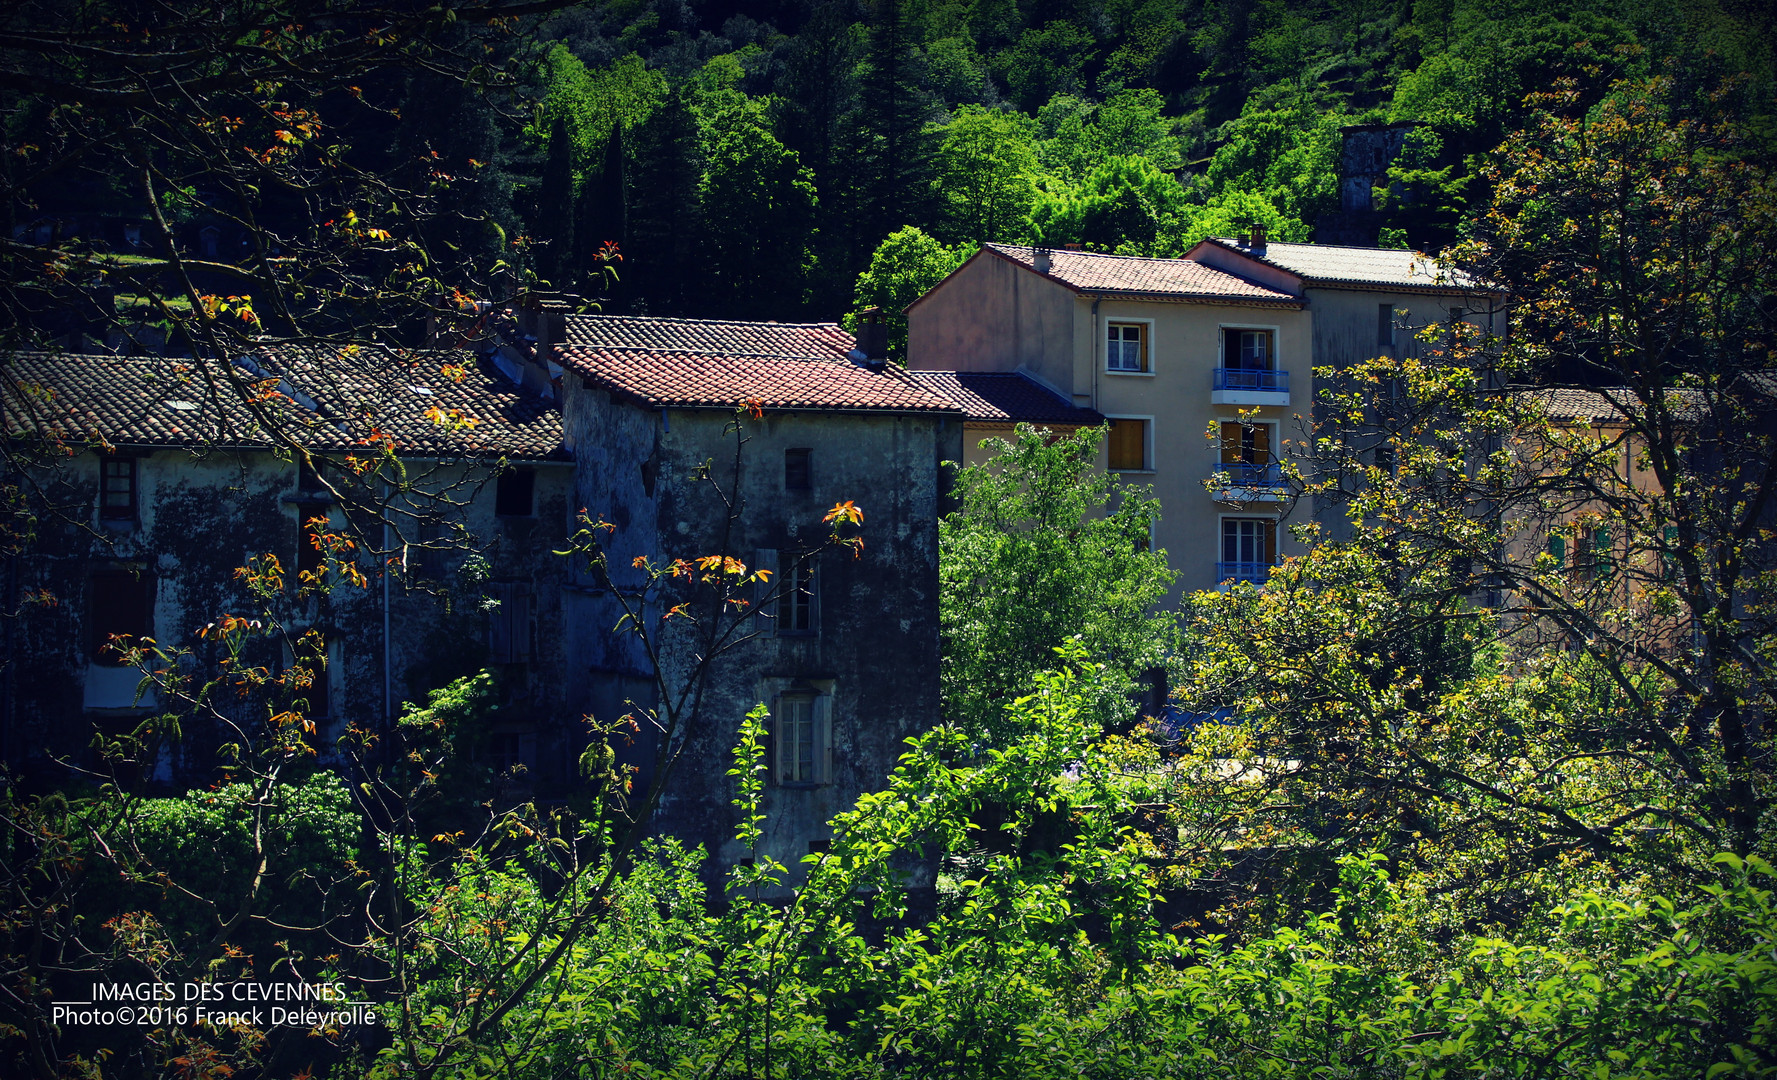
[(1304, 480), (1342, 538), (1205, 597), (1185, 680), (1294, 851), (1374, 846), (1466, 922), (1768, 856), (1777, 202), (1722, 89), (1541, 98), (1446, 254), (1503, 343), (1324, 373)]

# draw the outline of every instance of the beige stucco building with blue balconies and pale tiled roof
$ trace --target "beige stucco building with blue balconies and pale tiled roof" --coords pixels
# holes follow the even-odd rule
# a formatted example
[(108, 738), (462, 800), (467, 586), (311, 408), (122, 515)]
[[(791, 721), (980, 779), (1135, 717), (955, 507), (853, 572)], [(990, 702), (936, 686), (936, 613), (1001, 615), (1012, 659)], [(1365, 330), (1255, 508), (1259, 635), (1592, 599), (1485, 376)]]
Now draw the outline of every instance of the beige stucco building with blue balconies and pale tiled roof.
[[(1102, 464), (1153, 485), (1153, 540), (1183, 593), (1262, 583), (1301, 551), (1288, 526), (1310, 508), (1283, 462), (1311, 435), (1315, 366), (1400, 355), (1418, 327), (1489, 327), (1493, 309), (1409, 250), (1263, 234), (1205, 240), (1180, 259), (990, 243), (908, 307), (908, 366), (963, 382), (1020, 375), (1102, 416)], [(960, 403), (968, 464), (1008, 421), (1041, 423)]]

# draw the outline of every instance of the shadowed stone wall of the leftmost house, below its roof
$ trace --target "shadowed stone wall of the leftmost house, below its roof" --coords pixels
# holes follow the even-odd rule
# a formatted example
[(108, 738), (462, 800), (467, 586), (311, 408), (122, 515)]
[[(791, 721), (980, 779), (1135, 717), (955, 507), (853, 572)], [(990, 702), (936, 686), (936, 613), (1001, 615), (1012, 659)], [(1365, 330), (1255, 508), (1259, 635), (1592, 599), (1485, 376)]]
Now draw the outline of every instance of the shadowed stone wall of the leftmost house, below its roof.
[[(140, 671), (94, 655), (92, 611), (100, 588), (117, 583), (107, 574), (128, 572), (146, 581), (153, 595), (153, 638), (163, 648), (190, 650), (194, 673), (213, 670), (215, 647), (199, 629), (222, 615), (258, 616), (259, 606), (236, 579), (252, 556), (275, 554), (293, 584), (299, 563), (300, 520), (336, 508), (297, 490), (297, 467), (267, 451), (187, 449), (137, 451), (137, 513), (105, 520), (98, 513), (101, 458), (82, 453), (32, 476), (60, 513), (46, 513), (36, 544), (11, 560), (9, 599), (43, 595), (11, 620), (0, 677), (4, 757), (41, 782), (66, 776), (57, 764), (76, 762), (98, 728), (126, 730), (155, 705), (137, 702)], [(410, 462), (428, 487), (455, 492), (441, 519), (462, 524), (464, 547), (476, 551), (485, 572), (464, 577), (466, 551), (437, 560), (432, 592), (416, 588), (418, 574), (382, 576), (382, 560), (361, 552), (368, 588), (339, 584), (322, 599), (283, 602), (274, 613), (286, 627), (316, 627), (329, 638), (329, 705), (316, 734), (325, 755), (348, 721), (382, 725), (391, 711), (450, 677), (474, 671), (489, 659), (489, 611), (483, 581), (526, 583), (535, 597), (528, 664), (508, 668), (508, 687), (522, 712), (542, 727), (563, 727), (562, 613), (554, 597), (565, 563), (553, 549), (563, 542), (569, 520), (572, 465), (540, 464), (533, 517), (498, 517), (496, 485), (487, 469)], [(437, 506), (444, 506), (439, 503)], [(396, 540), (375, 528), (373, 544)], [(252, 645), (256, 663), (279, 666), (283, 647), (270, 639)], [(243, 716), (263, 703), (231, 705)], [(155, 780), (167, 785), (210, 780), (213, 748), (224, 739), (219, 725), (203, 718), (187, 725), (179, 746), (163, 753)]]

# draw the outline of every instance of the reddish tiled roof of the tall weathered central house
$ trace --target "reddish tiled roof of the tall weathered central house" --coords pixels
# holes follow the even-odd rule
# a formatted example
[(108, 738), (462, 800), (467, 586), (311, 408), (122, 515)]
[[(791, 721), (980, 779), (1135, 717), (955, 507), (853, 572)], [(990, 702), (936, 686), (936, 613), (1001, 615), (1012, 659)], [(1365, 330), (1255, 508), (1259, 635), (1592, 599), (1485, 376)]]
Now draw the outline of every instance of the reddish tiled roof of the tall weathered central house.
[(956, 412), (903, 368), (869, 369), (837, 323), (743, 323), (620, 314), (569, 316), (556, 361), (656, 409)]

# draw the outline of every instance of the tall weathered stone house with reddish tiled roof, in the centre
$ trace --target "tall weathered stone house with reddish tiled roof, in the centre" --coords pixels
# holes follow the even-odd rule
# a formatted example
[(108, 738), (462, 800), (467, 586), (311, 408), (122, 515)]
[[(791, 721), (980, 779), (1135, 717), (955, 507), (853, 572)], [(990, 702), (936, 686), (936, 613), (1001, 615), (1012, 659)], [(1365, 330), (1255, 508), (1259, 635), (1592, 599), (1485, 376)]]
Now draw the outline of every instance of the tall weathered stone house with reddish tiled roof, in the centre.
[[(563, 371), (574, 499), (613, 522), (617, 574), (638, 556), (727, 554), (775, 570), (784, 586), (736, 616), (737, 643), (709, 668), (688, 718), (677, 766), (686, 782), (670, 783), (657, 824), (704, 842), (711, 876), (753, 858), (732, 838), (725, 773), (741, 718), (762, 702), (771, 721), (759, 854), (798, 869), (826, 844), (828, 819), (878, 789), (903, 741), (938, 721), (940, 462), (961, 455), (961, 409), (867, 359), (833, 323), (565, 316), (538, 329)], [(748, 401), (761, 412), (743, 417), (736, 455), (730, 423)], [(857, 558), (823, 549), (821, 519), (842, 501), (864, 512)], [(611, 634), (615, 600), (581, 581), (565, 608), (565, 647), (590, 661), (585, 711), (656, 707), (654, 664), (634, 638)], [(661, 686), (684, 686), (695, 652), (691, 636), (665, 629)], [(652, 767), (647, 728), (620, 750)]]

